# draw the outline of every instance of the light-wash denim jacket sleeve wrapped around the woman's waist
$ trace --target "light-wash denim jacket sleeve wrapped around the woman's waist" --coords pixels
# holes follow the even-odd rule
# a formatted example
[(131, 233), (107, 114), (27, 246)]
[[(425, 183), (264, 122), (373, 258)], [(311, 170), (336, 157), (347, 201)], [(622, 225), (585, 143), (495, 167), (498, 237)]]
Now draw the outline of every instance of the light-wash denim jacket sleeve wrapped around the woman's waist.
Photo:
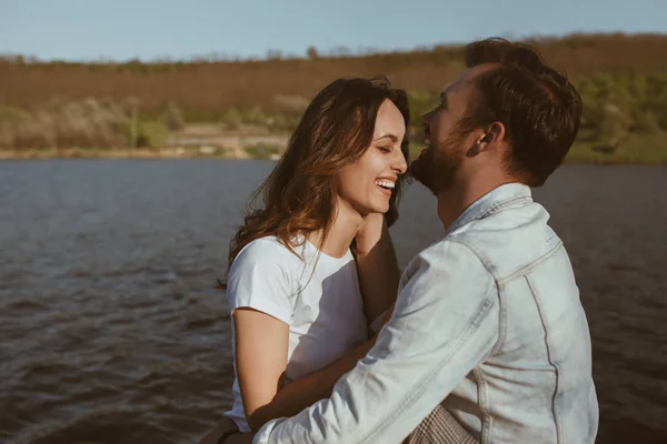
[(255, 443), (400, 442), (494, 350), (496, 282), (466, 245), (445, 239), (415, 258), (372, 350), (329, 398), (267, 423)]

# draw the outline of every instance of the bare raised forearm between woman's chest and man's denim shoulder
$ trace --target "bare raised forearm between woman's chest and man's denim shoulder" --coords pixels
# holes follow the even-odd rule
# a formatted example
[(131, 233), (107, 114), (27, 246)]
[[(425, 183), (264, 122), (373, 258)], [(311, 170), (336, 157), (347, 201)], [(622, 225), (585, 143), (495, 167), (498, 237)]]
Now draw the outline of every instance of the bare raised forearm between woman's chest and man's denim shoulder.
[(385, 215), (368, 214), (355, 241), (364, 313), (371, 324), (394, 305), (400, 278)]

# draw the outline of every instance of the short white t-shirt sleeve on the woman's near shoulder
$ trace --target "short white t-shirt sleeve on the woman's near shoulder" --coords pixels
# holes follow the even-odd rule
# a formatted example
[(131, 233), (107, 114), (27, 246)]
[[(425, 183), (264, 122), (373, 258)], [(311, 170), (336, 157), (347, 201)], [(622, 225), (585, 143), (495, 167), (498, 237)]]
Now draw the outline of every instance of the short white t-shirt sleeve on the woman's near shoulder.
[(291, 254), (285, 246), (262, 240), (241, 250), (227, 279), (231, 313), (249, 307), (290, 323), (293, 292), (286, 252)]

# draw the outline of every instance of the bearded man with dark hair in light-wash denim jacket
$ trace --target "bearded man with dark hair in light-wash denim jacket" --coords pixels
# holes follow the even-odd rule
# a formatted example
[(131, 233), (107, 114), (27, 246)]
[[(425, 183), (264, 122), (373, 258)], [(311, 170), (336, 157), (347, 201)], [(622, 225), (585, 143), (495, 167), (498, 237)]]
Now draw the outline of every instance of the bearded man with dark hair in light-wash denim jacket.
[(526, 46), (475, 42), (466, 62), (411, 165), (445, 236), (408, 264), (391, 319), (331, 396), (255, 443), (399, 443), (438, 405), (481, 443), (595, 441), (588, 324), (530, 194), (567, 154), (581, 100)]

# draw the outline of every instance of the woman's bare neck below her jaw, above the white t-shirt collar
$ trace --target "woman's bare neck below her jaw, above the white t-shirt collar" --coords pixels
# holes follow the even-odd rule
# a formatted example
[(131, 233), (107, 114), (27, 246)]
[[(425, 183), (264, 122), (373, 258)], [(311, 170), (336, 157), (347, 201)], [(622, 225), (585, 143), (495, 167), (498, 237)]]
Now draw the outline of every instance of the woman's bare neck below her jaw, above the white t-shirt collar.
[(322, 243), (323, 230), (310, 233), (308, 241), (327, 255), (342, 258), (347, 254), (362, 221), (364, 218), (358, 212), (338, 199), (334, 208), (334, 222), (325, 242)]

